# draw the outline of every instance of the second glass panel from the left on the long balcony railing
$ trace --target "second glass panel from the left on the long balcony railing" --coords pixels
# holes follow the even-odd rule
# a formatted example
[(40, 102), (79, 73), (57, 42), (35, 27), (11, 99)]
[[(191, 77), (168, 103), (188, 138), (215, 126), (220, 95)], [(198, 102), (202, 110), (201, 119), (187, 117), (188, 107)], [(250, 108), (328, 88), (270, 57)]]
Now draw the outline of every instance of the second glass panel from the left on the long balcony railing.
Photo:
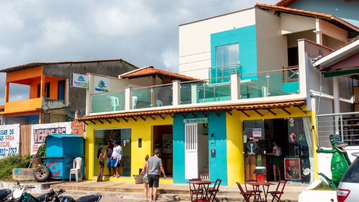
[(132, 89), (132, 109), (143, 109), (152, 107), (152, 88)]

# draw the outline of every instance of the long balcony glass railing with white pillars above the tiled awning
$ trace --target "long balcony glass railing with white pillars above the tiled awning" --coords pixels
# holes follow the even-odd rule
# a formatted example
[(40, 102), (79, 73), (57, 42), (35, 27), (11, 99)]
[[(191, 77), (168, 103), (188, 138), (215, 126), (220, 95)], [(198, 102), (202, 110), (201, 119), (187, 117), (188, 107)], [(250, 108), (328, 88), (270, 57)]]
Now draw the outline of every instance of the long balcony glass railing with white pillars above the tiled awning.
[[(300, 93), (298, 67), (249, 74), (239, 74), (236, 72), (239, 71), (238, 69), (232, 70), (230, 75), (221, 77), (188, 82), (173, 81), (172, 84), (166, 85), (93, 94), (91, 95), (91, 113), (157, 107), (175, 108), (184, 105), (200, 106), (205, 103), (229, 100), (235, 103), (235, 100), (240, 99)], [(221, 75), (223, 75), (222, 72)]]

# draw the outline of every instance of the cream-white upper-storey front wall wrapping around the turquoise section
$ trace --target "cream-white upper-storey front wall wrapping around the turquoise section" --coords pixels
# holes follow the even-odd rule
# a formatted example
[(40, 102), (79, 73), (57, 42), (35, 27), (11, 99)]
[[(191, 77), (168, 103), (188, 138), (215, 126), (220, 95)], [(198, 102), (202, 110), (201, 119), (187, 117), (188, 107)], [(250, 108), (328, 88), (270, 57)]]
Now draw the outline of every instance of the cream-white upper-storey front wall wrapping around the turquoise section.
[(254, 25), (255, 10), (259, 9), (250, 8), (180, 25), (179, 73), (201, 79), (208, 78), (206, 68), (211, 67), (210, 35)]

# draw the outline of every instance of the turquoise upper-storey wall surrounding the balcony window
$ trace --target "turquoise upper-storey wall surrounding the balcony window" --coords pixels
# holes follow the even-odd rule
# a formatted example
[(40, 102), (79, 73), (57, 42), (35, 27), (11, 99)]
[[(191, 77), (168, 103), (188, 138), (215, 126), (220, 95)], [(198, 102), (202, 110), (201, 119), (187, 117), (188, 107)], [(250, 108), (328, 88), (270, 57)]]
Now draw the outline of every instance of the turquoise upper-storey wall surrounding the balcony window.
[[(240, 47), (242, 74), (257, 72), (255, 25), (211, 34), (211, 67), (216, 67), (216, 47), (235, 43)], [(256, 79), (256, 75), (242, 77), (242, 79), (250, 78)]]

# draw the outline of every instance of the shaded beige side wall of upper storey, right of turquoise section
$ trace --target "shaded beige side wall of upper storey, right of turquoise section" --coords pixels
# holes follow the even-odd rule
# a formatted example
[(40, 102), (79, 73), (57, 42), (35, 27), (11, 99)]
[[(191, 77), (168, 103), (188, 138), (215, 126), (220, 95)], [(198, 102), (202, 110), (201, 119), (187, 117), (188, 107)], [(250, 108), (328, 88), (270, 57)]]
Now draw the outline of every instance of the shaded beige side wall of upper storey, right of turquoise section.
[(281, 17), (261, 9), (255, 10), (257, 71), (288, 66), (287, 37), (281, 33)]

